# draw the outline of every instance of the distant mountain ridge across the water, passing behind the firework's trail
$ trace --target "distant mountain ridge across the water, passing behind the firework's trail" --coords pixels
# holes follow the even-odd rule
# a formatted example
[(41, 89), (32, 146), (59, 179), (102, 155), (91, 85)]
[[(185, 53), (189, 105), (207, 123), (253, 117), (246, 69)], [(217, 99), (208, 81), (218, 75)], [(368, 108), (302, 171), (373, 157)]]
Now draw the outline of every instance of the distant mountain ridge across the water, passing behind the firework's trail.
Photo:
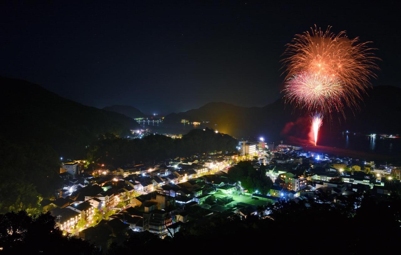
[[(401, 89), (393, 86), (377, 86), (364, 96), (360, 110), (352, 113), (346, 109), (346, 120), (338, 121), (334, 116), (332, 123), (322, 126), (323, 132), (352, 130), (362, 133), (401, 133)], [(300, 120), (305, 113), (293, 112), (277, 100), (264, 107), (241, 107), (223, 102), (212, 102), (198, 109), (173, 113), (165, 121), (176, 122), (181, 119), (190, 121), (210, 121), (210, 125), (223, 133), (238, 138), (264, 135), (267, 139), (286, 139), (287, 135), (305, 136), (308, 118)], [(284, 127), (296, 122), (290, 133), (283, 133)], [(217, 124), (217, 125), (215, 125)], [(303, 126), (304, 125), (304, 126)], [(281, 133), (281, 135), (280, 135)], [(304, 137), (306, 138), (306, 137)]]

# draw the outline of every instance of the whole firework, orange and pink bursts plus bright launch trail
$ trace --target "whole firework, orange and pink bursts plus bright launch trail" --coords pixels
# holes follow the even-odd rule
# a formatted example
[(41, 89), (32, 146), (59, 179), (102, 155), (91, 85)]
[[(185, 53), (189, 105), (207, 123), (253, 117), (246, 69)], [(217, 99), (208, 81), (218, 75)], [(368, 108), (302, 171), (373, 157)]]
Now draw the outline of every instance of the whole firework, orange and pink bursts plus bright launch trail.
[(332, 120), (332, 113), (345, 118), (344, 106), (359, 109), (362, 95), (371, 87), (373, 71), (379, 69), (371, 42), (360, 43), (349, 39), (346, 32), (337, 35), (318, 29), (296, 35), (286, 45), (282, 60), (286, 83), (284, 100), (295, 108), (311, 113), (315, 145), (324, 116)]

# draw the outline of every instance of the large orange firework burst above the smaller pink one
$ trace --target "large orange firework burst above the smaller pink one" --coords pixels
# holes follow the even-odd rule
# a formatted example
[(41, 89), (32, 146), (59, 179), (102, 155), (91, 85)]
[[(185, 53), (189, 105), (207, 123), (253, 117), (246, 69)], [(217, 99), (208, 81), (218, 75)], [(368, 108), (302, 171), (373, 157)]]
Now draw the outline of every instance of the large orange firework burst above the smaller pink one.
[[(375, 63), (379, 58), (367, 46), (371, 42), (360, 43), (358, 37), (349, 39), (345, 31), (336, 35), (330, 32), (330, 28), (324, 32), (315, 25), (311, 32), (296, 35), (287, 45), (286, 57), (282, 60), (286, 80), (304, 72), (326, 77), (323, 79), (332, 77), (341, 81), (342, 102), (351, 109), (358, 109), (361, 94), (371, 87), (370, 79), (376, 77), (373, 71), (379, 69)], [(338, 100), (338, 97), (333, 100)], [(338, 106), (338, 102), (334, 105)]]

